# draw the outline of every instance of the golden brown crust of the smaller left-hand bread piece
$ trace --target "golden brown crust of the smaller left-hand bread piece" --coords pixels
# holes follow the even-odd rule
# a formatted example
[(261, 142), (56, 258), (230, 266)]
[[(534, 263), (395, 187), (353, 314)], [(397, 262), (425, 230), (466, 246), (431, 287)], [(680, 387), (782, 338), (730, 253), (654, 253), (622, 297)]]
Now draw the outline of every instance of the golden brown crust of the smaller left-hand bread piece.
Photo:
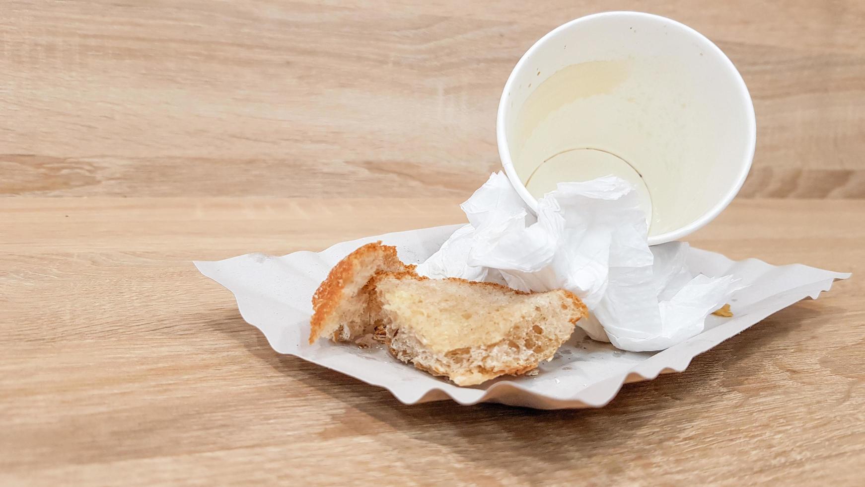
[(368, 243), (349, 253), (330, 269), (327, 278), (322, 281), (315, 294), (312, 295), (313, 314), (310, 319), (310, 344), (315, 343), (319, 336), (322, 336), (325, 322), (336, 311), (336, 306), (343, 299), (345, 286), (355, 279), (356, 272), (360, 270), (362, 262), (375, 257), (380, 259), (384, 268), (402, 266), (407, 269), (406, 272), (413, 269), (413, 266), (410, 268), (402, 264), (396, 256), (396, 247), (381, 245), (381, 241)]

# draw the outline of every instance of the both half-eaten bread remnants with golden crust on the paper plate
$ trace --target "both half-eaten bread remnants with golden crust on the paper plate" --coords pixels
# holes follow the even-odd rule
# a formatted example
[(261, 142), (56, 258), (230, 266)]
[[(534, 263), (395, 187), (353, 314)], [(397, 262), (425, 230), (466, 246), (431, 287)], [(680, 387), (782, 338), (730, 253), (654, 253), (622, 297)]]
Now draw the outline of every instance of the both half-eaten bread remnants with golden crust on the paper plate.
[(571, 292), (428, 279), (388, 249), (369, 244), (334, 267), (313, 298), (310, 343), (374, 333), (401, 361), (471, 386), (549, 360), (586, 315)]

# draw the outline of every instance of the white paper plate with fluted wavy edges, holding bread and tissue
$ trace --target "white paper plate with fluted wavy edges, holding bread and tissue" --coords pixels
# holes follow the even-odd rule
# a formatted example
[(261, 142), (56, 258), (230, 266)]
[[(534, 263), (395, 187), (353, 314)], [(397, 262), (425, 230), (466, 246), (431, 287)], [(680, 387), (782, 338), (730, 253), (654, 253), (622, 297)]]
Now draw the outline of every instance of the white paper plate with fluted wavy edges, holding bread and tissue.
[(323, 252), (295, 252), (282, 257), (250, 253), (215, 262), (195, 262), (205, 276), (234, 293), (240, 314), (281, 354), (298, 356), (345, 375), (388, 389), (406, 404), (448, 398), (459, 404), (501, 402), (513, 406), (558, 409), (601, 407), (628, 381), (654, 379), (662, 371), (681, 372), (691, 359), (763, 318), (829, 291), (849, 274), (793, 264), (772, 266), (761, 260), (738, 262), (719, 253), (689, 249), (688, 265), (708, 276), (734, 274), (745, 289), (731, 303), (734, 317), (709, 316), (706, 330), (660, 352), (627, 352), (590, 340), (580, 329), (530, 377), (503, 377), (461, 388), (399, 362), (384, 349), (359, 349), (320, 340), (307, 344), (312, 294), (330, 268), (350, 252), (375, 240), (397, 247), (407, 263), (426, 260), (459, 225), (409, 230), (338, 243)]

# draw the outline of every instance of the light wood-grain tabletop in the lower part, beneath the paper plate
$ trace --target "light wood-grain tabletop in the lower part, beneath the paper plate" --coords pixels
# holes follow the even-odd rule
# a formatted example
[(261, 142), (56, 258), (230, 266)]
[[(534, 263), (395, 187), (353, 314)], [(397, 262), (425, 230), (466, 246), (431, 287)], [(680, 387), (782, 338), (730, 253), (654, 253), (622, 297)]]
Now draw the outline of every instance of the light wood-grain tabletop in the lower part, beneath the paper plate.
[[(541, 412), (407, 407), (279, 356), (189, 262), (461, 221), (458, 201), (2, 200), (0, 484), (861, 480), (862, 279), (603, 409)], [(858, 274), (865, 202), (741, 199), (691, 241)]]

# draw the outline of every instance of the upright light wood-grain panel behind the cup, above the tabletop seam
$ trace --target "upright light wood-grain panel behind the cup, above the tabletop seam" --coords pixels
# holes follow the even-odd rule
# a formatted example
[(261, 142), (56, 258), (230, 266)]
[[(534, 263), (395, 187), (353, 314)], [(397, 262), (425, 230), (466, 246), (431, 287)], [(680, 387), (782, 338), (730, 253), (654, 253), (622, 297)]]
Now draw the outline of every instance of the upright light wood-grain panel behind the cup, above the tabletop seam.
[(865, 197), (865, 2), (3, 0), (4, 195), (458, 196), (541, 35), (644, 10), (754, 99), (742, 197)]

